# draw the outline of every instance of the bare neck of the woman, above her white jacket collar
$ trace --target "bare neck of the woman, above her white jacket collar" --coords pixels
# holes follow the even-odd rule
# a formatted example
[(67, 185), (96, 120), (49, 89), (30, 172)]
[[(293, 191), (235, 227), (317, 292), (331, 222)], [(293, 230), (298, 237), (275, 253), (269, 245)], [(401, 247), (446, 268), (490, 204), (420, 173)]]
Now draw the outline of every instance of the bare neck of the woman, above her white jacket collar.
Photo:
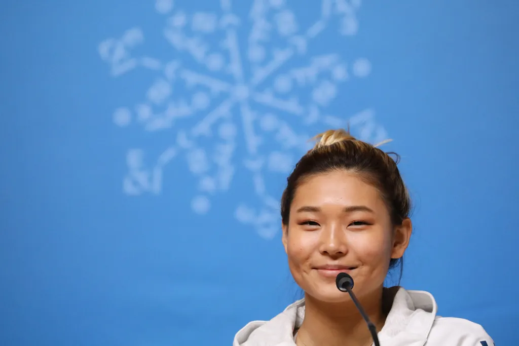
[[(346, 293), (347, 294), (347, 293)], [(385, 323), (383, 288), (358, 297), (364, 311), (380, 330)], [(355, 303), (326, 303), (305, 295), (305, 319), (297, 334), (298, 346), (371, 345), (373, 339)]]

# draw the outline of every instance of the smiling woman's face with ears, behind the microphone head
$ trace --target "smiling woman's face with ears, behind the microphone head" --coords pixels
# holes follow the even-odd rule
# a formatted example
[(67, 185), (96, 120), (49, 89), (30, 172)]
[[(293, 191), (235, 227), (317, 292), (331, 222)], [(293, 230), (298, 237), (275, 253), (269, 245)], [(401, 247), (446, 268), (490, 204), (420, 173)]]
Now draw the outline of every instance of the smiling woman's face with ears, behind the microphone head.
[(349, 299), (335, 284), (349, 273), (354, 292), (367, 295), (383, 284), (391, 258), (402, 257), (411, 222), (393, 227), (379, 191), (347, 171), (311, 176), (297, 187), (283, 245), (296, 283), (326, 302)]

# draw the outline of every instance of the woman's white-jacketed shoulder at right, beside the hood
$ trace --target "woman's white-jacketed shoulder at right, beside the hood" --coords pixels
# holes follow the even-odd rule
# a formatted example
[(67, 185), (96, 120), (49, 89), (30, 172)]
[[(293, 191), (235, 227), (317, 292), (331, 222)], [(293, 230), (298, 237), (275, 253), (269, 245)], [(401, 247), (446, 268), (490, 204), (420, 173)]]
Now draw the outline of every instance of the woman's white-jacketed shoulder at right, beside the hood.
[(426, 344), (441, 345), (447, 340), (459, 346), (494, 346), (481, 325), (458, 317), (436, 316)]

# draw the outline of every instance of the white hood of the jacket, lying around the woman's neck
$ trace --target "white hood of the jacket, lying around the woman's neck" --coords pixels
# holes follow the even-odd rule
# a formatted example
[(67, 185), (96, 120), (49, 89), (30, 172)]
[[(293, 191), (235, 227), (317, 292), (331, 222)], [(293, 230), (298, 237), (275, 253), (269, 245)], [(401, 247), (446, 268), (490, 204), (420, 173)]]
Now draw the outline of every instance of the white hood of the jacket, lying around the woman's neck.
[[(384, 345), (421, 346), (427, 341), (436, 317), (434, 297), (425, 291), (391, 287), (396, 292), (386, 323), (378, 338)], [(289, 305), (270, 321), (253, 321), (241, 328), (233, 346), (294, 346), (294, 328), (305, 317), (305, 300)], [(367, 325), (366, 325), (367, 328)]]

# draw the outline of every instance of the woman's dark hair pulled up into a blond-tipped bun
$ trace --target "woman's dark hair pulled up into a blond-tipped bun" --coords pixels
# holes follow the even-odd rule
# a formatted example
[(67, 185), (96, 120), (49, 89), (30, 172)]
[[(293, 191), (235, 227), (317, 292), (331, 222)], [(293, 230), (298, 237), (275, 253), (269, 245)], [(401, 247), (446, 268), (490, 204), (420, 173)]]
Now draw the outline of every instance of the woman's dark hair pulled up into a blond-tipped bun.
[[(292, 174), (286, 179), (287, 185), (281, 197), (283, 225), (289, 224), (290, 206), (302, 180), (334, 170), (356, 172), (366, 183), (375, 186), (384, 199), (393, 225), (401, 225), (409, 217), (411, 199), (397, 168), (400, 160), (398, 154), (385, 153), (372, 144), (355, 139), (343, 129), (328, 130), (315, 138), (319, 139), (315, 147), (297, 162)], [(403, 258), (391, 259), (389, 269), (396, 267), (400, 267), (401, 280)]]

